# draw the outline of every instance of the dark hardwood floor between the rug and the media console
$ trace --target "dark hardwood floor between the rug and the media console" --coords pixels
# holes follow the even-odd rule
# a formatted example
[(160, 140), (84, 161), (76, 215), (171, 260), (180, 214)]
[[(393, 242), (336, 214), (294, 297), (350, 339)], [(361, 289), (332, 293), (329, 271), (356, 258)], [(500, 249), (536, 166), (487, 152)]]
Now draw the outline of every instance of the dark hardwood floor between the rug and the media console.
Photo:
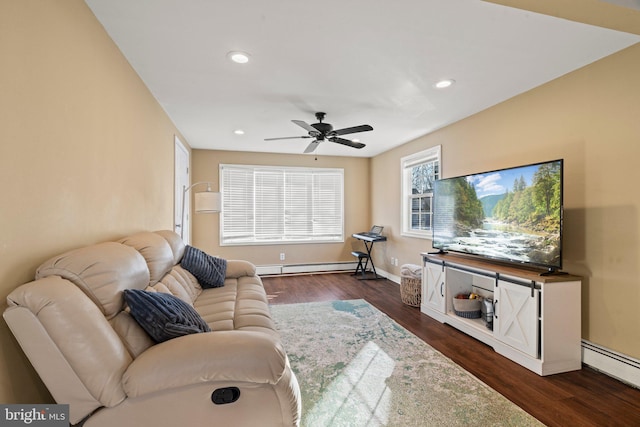
[[(541, 377), (349, 273), (263, 277), (271, 304), (364, 299), (548, 426), (640, 426), (640, 390), (588, 367)], [(561, 327), (561, 326), (559, 326)]]

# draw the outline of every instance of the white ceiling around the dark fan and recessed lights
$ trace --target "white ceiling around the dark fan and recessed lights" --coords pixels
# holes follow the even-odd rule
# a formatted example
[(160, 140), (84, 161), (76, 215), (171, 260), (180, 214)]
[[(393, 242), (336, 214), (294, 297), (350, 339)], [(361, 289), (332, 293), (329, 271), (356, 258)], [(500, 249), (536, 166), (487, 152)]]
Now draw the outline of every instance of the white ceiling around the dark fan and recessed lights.
[(264, 138), (306, 135), (291, 120), (324, 111), (374, 130), (317, 154), (371, 157), (640, 41), (479, 0), (85, 1), (202, 149), (302, 153), (309, 139)]

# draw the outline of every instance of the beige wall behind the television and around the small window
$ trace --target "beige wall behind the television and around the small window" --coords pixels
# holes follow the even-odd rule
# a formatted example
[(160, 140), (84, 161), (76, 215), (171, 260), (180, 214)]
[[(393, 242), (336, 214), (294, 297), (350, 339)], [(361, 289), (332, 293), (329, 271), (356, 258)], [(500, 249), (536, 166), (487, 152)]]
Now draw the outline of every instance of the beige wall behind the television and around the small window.
[(372, 159), (384, 196), (371, 219), (400, 263), (431, 249), (399, 235), (400, 158), (435, 145), (444, 177), (565, 159), (563, 258), (584, 276), (582, 336), (640, 359), (640, 44)]

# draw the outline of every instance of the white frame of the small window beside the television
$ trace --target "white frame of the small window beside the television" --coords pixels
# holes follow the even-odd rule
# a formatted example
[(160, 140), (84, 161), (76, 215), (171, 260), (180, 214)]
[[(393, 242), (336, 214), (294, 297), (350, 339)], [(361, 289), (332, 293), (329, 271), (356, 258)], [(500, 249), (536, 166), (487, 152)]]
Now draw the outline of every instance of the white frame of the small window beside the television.
[(401, 231), (400, 234), (406, 237), (415, 237), (419, 239), (431, 239), (433, 229), (433, 190), (430, 192), (422, 193), (422, 197), (431, 197), (430, 214), (431, 224), (427, 229), (416, 230), (411, 228), (411, 215), (412, 215), (412, 201), (415, 196), (412, 194), (411, 183), (411, 169), (421, 164), (436, 162), (437, 168), (434, 176), (434, 180), (439, 179), (442, 176), (442, 159), (441, 159), (441, 146), (428, 148), (426, 150), (402, 157), (400, 159), (400, 173), (401, 173), (401, 190), (400, 190), (400, 206), (401, 206)]

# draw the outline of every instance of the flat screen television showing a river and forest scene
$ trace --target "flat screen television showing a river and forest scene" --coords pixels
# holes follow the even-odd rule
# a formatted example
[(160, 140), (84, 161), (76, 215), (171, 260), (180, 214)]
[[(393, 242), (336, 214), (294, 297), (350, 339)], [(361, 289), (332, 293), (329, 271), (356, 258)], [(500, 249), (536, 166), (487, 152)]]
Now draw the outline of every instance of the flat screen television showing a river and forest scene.
[(562, 176), (553, 160), (435, 181), (433, 247), (559, 270)]

